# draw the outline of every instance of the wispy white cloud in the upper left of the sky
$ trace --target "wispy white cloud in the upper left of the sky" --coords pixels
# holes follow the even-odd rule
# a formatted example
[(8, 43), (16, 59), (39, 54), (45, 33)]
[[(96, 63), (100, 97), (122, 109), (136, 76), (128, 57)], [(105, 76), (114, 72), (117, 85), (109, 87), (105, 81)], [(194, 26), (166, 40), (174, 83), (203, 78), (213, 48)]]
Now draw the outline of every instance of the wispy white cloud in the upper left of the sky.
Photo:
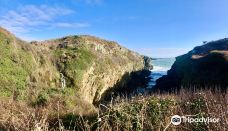
[(47, 5), (26, 5), (6, 12), (0, 16), (0, 26), (7, 28), (17, 35), (37, 31), (41, 27), (81, 28), (86, 23), (63, 23), (58, 18), (74, 13), (73, 10)]

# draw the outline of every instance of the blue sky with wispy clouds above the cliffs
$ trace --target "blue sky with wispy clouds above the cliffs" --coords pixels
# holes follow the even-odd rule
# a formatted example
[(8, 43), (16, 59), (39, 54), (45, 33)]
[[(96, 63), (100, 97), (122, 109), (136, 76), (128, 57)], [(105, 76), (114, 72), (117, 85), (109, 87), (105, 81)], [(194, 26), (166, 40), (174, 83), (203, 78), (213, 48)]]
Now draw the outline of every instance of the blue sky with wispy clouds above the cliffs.
[(25, 40), (89, 34), (174, 57), (228, 36), (227, 0), (0, 0), (0, 26)]

